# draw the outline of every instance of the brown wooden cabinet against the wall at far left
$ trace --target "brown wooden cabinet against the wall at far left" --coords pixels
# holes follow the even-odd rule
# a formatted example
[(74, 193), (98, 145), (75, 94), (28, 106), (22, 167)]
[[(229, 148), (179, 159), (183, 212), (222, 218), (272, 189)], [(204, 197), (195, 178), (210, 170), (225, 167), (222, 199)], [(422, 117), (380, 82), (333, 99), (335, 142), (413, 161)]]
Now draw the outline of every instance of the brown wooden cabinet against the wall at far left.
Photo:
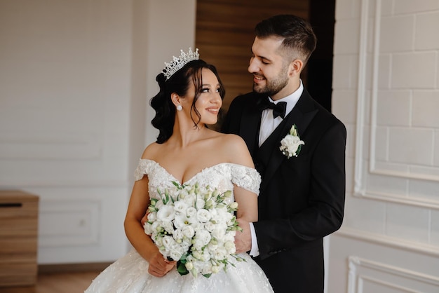
[(39, 197), (0, 190), (0, 287), (34, 285)]

